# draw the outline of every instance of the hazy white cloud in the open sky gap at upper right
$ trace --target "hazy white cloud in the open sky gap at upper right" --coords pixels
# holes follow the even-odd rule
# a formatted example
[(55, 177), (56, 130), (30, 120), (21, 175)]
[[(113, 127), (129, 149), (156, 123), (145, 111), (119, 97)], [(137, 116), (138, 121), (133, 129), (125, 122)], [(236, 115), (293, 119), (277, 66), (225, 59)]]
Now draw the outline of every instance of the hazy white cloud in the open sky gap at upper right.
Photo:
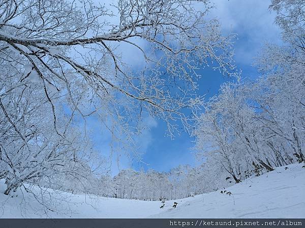
[(223, 32), (237, 33), (236, 61), (251, 64), (265, 42), (281, 43), (280, 29), (275, 25), (275, 13), (268, 10), (267, 0), (212, 0), (216, 9), (210, 17), (219, 18)]

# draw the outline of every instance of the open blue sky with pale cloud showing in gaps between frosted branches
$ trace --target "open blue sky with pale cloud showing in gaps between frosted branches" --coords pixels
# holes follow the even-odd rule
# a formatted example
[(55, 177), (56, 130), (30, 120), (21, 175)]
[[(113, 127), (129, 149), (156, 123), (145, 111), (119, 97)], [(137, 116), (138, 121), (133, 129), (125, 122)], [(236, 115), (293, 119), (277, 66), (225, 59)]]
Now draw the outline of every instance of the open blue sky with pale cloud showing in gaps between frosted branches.
[[(214, 0), (216, 9), (212, 10), (210, 17), (219, 18), (223, 33), (237, 33), (238, 40), (235, 41), (235, 63), (242, 70), (243, 78), (256, 78), (258, 74), (252, 66), (253, 58), (256, 57), (261, 47), (266, 42), (280, 43), (280, 30), (273, 23), (274, 14), (268, 11), (267, 0)], [(133, 56), (130, 49), (124, 50), (126, 59)], [(134, 60), (134, 58), (132, 58)], [(141, 62), (134, 65), (137, 67)], [(220, 85), (230, 79), (223, 77), (218, 71), (209, 68), (200, 71), (202, 79), (199, 82), (199, 93), (206, 94), (208, 99), (217, 94)], [(132, 162), (124, 153), (120, 154), (119, 167), (116, 163), (117, 155), (114, 154), (111, 161), (111, 173), (117, 174), (119, 169), (143, 168), (155, 169), (157, 171), (168, 171), (180, 164), (198, 165), (192, 154), (193, 138), (187, 133), (181, 133), (173, 140), (165, 137), (166, 125), (162, 121), (147, 118), (150, 130), (145, 130), (137, 139), (141, 142), (141, 149), (145, 151), (142, 155), (143, 162)], [(93, 141), (95, 147), (109, 155), (110, 136), (104, 132), (97, 120), (90, 120), (89, 127), (93, 130)], [(109, 164), (110, 167), (110, 164)]]

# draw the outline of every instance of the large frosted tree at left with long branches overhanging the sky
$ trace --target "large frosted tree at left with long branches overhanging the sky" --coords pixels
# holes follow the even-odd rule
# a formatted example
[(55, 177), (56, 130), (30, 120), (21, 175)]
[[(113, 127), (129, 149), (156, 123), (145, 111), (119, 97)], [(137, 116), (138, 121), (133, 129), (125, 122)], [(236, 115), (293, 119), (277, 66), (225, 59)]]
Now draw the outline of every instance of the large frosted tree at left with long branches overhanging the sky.
[[(0, 176), (6, 194), (52, 175), (87, 179), (92, 146), (80, 120), (98, 115), (133, 142), (145, 115), (169, 135), (188, 129), (202, 97), (196, 70), (208, 62), (234, 74), (233, 36), (207, 20), (209, 1), (0, 1)], [(145, 45), (140, 45), (139, 41)], [(144, 66), (133, 69), (127, 45)], [(38, 180), (40, 179), (40, 180)], [(26, 187), (25, 187), (26, 188)], [(123, 194), (124, 195), (124, 194)], [(130, 193), (133, 195), (133, 193)]]

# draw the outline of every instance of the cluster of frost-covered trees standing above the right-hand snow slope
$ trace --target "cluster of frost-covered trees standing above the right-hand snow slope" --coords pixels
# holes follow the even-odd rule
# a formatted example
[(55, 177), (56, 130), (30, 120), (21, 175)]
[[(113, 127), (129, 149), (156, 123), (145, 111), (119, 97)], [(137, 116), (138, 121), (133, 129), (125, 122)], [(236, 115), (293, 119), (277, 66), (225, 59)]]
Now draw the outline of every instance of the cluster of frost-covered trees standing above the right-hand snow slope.
[[(273, 167), (304, 162), (304, 3), (273, 0), (282, 46), (267, 44), (254, 82), (225, 83), (198, 119), (196, 150), (239, 182)], [(229, 177), (228, 177), (229, 178)]]

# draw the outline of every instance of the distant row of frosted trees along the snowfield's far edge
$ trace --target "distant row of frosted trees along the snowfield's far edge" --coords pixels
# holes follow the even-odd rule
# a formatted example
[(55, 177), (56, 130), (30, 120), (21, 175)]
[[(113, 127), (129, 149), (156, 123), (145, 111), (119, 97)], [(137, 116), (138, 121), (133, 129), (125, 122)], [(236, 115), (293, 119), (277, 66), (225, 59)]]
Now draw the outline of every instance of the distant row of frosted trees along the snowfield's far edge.
[[(233, 184), (231, 180), (226, 181), (228, 175), (224, 169), (212, 171), (209, 166), (212, 164), (203, 164), (198, 167), (178, 166), (169, 172), (126, 169), (121, 170), (114, 177), (88, 175), (81, 184), (76, 177), (62, 175), (57, 176), (55, 181), (48, 182), (45, 186), (73, 194), (158, 201), (191, 197)], [(212, 178), (213, 176), (218, 178)]]

